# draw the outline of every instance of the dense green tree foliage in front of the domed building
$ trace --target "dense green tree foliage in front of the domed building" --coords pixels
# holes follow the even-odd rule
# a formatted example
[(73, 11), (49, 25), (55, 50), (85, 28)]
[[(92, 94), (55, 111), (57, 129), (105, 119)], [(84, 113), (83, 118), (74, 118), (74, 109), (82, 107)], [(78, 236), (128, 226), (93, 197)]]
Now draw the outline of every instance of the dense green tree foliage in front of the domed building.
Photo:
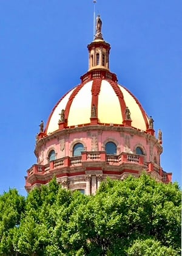
[(180, 255), (181, 191), (143, 174), (95, 196), (53, 179), (27, 198), (0, 196), (0, 255)]

